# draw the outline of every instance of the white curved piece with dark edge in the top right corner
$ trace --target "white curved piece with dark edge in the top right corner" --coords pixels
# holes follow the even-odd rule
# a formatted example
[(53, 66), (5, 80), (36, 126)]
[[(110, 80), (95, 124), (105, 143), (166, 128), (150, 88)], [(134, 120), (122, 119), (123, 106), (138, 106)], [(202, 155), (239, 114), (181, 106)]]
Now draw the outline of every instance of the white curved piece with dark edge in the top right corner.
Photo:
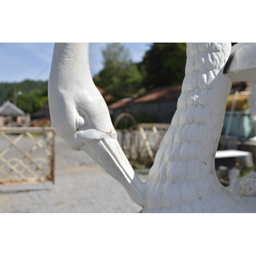
[(232, 81), (256, 81), (256, 43), (233, 45), (223, 74)]

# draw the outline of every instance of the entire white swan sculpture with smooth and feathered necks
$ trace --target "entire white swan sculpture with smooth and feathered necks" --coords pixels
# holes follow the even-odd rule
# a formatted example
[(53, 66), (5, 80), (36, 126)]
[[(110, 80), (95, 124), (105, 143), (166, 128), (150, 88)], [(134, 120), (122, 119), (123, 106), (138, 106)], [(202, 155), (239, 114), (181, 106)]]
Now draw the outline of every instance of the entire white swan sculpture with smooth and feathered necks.
[(256, 81), (255, 48), (187, 44), (177, 110), (146, 182), (117, 142), (107, 105), (92, 81), (88, 43), (54, 45), (48, 86), (52, 125), (71, 148), (84, 150), (119, 181), (141, 212), (256, 212), (255, 197), (247, 193), (255, 190), (255, 174), (228, 190), (214, 167), (231, 79)]

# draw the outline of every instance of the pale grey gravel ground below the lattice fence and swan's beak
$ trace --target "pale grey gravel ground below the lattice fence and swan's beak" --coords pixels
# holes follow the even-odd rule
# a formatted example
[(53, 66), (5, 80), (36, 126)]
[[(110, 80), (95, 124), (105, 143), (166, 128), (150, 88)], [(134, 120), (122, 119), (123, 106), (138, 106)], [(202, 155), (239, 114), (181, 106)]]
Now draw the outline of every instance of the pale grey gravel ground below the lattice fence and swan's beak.
[[(1, 140), (1, 147), (3, 141)], [(142, 181), (146, 175), (139, 175)], [(83, 151), (55, 137), (55, 184), (0, 185), (0, 212), (137, 213), (141, 207)]]

